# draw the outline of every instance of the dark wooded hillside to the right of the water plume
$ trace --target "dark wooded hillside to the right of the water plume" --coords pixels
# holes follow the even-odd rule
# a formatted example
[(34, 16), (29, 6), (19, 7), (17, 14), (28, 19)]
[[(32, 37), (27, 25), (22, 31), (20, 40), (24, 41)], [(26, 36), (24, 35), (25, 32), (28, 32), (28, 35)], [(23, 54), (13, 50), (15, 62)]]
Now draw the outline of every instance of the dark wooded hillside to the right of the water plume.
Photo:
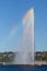
[(35, 52), (35, 60), (36, 61), (47, 61), (47, 51), (36, 51)]

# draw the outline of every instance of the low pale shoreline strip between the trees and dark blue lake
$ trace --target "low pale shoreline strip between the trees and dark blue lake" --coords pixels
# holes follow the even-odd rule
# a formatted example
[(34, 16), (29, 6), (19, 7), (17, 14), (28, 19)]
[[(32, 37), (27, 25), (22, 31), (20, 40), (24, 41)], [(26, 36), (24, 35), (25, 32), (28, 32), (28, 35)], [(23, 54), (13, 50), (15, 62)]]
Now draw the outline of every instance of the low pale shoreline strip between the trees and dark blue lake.
[(34, 64), (11, 64), (11, 63), (0, 63), (0, 66), (47, 66), (47, 61), (35, 61)]

